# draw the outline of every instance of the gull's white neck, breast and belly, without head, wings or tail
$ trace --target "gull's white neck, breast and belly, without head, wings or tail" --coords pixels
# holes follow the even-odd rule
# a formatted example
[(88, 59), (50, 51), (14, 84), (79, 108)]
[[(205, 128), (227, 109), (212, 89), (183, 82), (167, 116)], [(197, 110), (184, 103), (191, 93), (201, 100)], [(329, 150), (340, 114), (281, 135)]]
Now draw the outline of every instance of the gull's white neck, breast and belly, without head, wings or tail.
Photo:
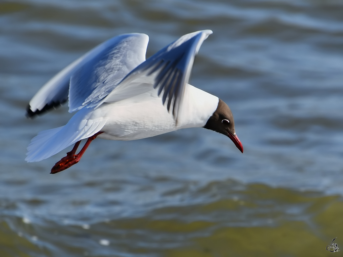
[(135, 140), (188, 127), (202, 127), (218, 106), (218, 97), (186, 84), (176, 124), (173, 114), (162, 105), (156, 90), (115, 103), (103, 103), (90, 116), (101, 115), (107, 122), (99, 138)]

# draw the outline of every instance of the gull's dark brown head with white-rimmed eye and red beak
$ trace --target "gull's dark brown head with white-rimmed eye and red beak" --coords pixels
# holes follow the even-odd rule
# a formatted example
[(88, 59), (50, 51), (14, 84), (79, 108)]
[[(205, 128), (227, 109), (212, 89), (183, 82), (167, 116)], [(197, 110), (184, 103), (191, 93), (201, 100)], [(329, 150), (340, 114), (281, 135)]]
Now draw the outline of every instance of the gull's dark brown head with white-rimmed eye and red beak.
[(204, 126), (205, 129), (213, 130), (229, 137), (237, 148), (243, 153), (243, 145), (240, 143), (235, 132), (235, 121), (230, 108), (219, 99), (218, 107)]

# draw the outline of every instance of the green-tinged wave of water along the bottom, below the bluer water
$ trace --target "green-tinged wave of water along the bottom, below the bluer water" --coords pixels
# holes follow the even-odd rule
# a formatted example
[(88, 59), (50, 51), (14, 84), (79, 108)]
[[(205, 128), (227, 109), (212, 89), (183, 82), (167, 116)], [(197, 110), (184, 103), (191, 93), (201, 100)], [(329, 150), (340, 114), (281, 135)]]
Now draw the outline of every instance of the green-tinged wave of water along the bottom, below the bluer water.
[[(206, 204), (159, 208), (88, 229), (54, 222), (24, 224), (7, 217), (14, 219), (11, 228), (16, 231), (0, 223), (0, 256), (332, 256), (326, 246), (333, 238), (343, 246), (341, 197), (262, 184), (233, 189), (225, 182), (199, 192), (225, 185), (231, 186), (221, 199)], [(37, 241), (26, 239), (34, 234)], [(110, 244), (100, 245), (102, 239)]]

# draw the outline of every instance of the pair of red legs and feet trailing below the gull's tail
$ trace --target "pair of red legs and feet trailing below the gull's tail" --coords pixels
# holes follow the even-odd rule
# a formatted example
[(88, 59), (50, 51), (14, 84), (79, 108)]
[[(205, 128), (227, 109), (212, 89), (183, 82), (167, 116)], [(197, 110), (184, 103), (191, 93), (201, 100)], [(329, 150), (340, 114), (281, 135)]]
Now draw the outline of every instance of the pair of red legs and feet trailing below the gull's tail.
[(50, 174), (55, 174), (62, 170), (66, 170), (70, 166), (73, 166), (74, 164), (78, 163), (82, 155), (86, 151), (87, 147), (91, 144), (92, 140), (94, 140), (101, 133), (104, 132), (100, 131), (98, 133), (95, 133), (93, 136), (88, 137), (86, 144), (82, 147), (81, 151), (77, 155), (75, 155), (75, 152), (78, 149), (81, 140), (76, 142), (73, 149), (70, 152), (67, 152), (67, 156), (63, 157), (60, 161), (56, 162), (55, 166), (52, 167)]

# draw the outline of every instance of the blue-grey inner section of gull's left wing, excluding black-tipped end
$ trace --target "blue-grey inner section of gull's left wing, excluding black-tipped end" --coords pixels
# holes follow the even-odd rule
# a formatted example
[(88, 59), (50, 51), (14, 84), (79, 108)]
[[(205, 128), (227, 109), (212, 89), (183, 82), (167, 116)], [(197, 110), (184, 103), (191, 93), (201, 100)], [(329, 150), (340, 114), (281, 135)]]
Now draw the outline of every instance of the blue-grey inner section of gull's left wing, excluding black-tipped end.
[(149, 37), (145, 34), (124, 34), (93, 59), (87, 61), (70, 79), (69, 112), (99, 100), (137, 65), (145, 61)]

